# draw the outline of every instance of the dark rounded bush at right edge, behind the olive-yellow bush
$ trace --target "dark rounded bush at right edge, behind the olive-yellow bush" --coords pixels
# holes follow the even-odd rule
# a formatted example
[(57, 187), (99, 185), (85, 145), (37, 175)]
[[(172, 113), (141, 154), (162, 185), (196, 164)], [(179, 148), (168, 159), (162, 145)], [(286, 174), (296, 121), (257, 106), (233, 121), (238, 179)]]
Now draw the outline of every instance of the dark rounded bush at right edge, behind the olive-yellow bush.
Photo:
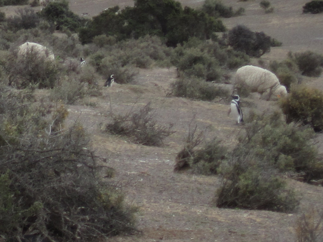
[(294, 54), (290, 53), (290, 56), (296, 62), (302, 75), (318, 77), (322, 73), (323, 55), (307, 50)]

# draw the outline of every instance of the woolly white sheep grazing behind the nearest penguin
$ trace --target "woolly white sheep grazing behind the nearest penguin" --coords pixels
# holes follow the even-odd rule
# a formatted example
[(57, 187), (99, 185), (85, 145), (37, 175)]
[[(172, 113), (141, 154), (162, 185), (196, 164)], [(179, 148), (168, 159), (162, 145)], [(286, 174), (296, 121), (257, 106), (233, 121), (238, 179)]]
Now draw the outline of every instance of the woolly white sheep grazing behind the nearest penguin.
[(246, 87), (257, 92), (264, 100), (276, 100), (287, 95), (286, 87), (280, 84), (276, 75), (268, 70), (254, 66), (244, 66), (237, 70), (235, 88)]

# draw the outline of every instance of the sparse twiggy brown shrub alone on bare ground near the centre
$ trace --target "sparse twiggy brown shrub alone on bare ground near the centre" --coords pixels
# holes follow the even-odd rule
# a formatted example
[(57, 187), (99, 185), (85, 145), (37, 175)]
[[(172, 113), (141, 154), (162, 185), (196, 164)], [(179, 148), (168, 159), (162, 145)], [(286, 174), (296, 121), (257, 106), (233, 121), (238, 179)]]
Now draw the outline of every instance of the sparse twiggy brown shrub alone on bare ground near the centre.
[(135, 143), (147, 146), (160, 146), (163, 140), (174, 134), (173, 124), (159, 125), (152, 112), (150, 102), (139, 111), (130, 110), (125, 115), (113, 114), (112, 122), (105, 125), (104, 130), (112, 134), (130, 137)]

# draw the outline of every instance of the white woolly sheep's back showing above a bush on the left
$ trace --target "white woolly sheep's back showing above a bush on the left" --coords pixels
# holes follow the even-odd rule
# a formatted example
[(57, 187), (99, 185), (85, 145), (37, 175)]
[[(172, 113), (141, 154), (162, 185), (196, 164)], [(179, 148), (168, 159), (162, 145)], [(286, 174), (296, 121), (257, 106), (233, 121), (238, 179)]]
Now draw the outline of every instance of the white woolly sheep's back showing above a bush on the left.
[(26, 54), (37, 54), (37, 57), (44, 58), (47, 61), (55, 61), (55, 55), (45, 46), (41, 44), (26, 42), (19, 46), (18, 56), (24, 57)]

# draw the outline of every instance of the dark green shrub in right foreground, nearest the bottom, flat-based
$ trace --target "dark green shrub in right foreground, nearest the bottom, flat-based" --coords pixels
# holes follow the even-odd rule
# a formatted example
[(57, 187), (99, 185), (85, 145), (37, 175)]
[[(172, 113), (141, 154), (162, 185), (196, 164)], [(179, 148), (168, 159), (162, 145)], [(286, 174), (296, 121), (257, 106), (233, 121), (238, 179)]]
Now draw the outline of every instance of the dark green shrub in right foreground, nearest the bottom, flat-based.
[(220, 208), (291, 212), (298, 206), (293, 190), (252, 155), (233, 156), (221, 165), (222, 184), (214, 203)]

